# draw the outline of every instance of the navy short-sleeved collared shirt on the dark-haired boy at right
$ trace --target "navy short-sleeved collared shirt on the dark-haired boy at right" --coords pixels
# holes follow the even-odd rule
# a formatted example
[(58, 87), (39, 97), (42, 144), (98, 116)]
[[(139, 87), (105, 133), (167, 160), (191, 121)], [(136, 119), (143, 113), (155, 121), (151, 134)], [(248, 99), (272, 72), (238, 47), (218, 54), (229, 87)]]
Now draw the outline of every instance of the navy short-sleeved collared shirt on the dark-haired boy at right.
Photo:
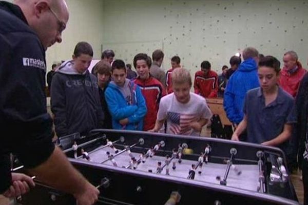
[(245, 96), (244, 114), (247, 117), (247, 142), (257, 144), (276, 138), (285, 124), (297, 122), (294, 98), (280, 87), (277, 98), (267, 106), (260, 87), (249, 90)]

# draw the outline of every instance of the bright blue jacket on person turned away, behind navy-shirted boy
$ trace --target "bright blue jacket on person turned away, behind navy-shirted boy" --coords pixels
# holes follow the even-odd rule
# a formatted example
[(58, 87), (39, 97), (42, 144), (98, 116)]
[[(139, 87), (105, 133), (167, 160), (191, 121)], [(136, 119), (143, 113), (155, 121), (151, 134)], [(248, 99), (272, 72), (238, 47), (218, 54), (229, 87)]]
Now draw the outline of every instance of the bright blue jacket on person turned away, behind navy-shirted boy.
[(242, 121), (246, 92), (259, 86), (258, 66), (253, 58), (248, 58), (230, 77), (224, 92), (223, 106), (231, 122), (239, 124)]

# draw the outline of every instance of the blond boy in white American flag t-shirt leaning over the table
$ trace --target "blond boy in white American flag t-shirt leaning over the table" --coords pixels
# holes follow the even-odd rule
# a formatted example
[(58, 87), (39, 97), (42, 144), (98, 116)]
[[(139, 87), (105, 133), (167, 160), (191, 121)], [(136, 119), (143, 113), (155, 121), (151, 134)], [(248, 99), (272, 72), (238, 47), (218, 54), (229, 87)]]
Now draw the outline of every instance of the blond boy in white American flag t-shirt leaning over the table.
[(155, 127), (150, 131), (158, 132), (167, 120), (168, 134), (200, 136), (212, 114), (205, 99), (190, 92), (191, 86), (189, 71), (177, 68), (172, 72), (174, 93), (161, 99)]

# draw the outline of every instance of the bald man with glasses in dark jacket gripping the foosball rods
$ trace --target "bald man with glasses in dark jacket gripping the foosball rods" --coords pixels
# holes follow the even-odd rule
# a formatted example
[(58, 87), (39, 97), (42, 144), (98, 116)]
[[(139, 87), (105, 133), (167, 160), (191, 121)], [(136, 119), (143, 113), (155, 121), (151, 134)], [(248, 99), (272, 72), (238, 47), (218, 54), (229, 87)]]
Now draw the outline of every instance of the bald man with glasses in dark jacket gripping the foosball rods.
[(90, 205), (99, 191), (51, 141), (44, 93), (45, 51), (62, 42), (69, 13), (64, 0), (0, 2), (0, 193), (14, 197), (33, 186), (10, 173), (9, 153), (48, 185)]

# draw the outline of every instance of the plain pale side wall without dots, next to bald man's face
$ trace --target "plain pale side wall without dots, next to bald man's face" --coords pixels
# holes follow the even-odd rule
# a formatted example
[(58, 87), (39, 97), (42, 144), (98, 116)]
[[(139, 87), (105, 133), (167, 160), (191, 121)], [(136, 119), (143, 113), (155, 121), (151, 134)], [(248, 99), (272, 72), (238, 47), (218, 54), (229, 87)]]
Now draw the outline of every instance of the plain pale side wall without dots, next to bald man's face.
[(55, 61), (71, 59), (75, 45), (86, 41), (92, 45), (94, 58), (101, 58), (103, 41), (103, 1), (66, 0), (70, 17), (63, 42), (56, 43), (46, 52), (47, 71)]

